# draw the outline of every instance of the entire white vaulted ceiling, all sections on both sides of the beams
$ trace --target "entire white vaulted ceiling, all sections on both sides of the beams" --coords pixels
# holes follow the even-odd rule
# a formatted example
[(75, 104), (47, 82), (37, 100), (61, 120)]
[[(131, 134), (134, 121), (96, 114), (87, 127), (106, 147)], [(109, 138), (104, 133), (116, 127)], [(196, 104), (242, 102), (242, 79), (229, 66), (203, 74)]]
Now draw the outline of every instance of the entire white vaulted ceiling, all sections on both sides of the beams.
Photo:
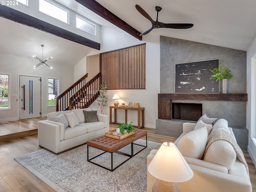
[[(100, 18), (92, 11), (84, 8), (75, 0), (56, 0), (68, 8), (86, 16), (102, 26), (111, 26), (108, 21)], [(144, 18), (135, 8), (140, 5), (153, 20), (156, 20), (155, 6), (162, 7), (158, 21), (164, 23), (193, 23), (186, 30), (154, 29), (153, 35), (168, 36), (247, 50), (256, 36), (256, 0), (96, 0), (116, 16), (144, 32), (151, 27), (149, 20)], [(40, 30), (0, 18), (0, 52), (31, 58), (32, 55), (44, 56), (54, 54), (54, 60), (63, 64), (77, 64), (92, 50), (63, 38)], [(76, 51), (72, 51), (76, 50)], [(53, 62), (53, 60), (52, 60)]]

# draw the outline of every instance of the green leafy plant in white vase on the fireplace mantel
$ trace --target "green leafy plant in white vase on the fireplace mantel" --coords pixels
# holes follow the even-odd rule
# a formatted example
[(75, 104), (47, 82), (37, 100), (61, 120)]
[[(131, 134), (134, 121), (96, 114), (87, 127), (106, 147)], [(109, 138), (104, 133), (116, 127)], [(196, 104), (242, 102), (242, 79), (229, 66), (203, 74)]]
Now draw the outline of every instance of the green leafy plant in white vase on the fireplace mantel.
[(210, 71), (214, 73), (210, 79), (215, 79), (216, 81), (222, 80), (222, 93), (228, 93), (228, 79), (234, 78), (230, 73), (231, 70), (219, 64), (218, 68), (210, 69)]

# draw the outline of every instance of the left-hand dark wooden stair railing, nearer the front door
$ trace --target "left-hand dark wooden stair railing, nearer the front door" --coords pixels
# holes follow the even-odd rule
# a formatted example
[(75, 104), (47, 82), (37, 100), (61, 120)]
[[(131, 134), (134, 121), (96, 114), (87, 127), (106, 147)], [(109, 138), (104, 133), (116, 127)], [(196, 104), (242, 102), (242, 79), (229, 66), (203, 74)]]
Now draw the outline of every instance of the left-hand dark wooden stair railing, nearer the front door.
[(64, 111), (68, 109), (70, 96), (86, 84), (87, 77), (88, 73), (82, 76), (56, 98), (56, 111)]

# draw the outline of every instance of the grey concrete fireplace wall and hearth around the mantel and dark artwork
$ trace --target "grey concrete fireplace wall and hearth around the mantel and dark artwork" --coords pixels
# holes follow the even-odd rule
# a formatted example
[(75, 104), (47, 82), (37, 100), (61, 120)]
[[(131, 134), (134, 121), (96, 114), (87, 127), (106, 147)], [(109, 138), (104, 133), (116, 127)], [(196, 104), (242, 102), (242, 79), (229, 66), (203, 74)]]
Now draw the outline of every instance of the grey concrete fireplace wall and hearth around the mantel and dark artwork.
[[(235, 76), (234, 79), (228, 80), (228, 93), (246, 94), (245, 51), (160, 36), (160, 94), (174, 94), (175, 64), (213, 59), (219, 59), (220, 64), (228, 67)], [(200, 103), (202, 104), (202, 114), (206, 114), (210, 118), (226, 119), (228, 125), (233, 128), (236, 140), (243, 150), (247, 150), (248, 146), (246, 101), (182, 100), (179, 97), (172, 100), (175, 103)], [(177, 138), (182, 133), (183, 122), (194, 121), (160, 119), (158, 114), (156, 134)]]

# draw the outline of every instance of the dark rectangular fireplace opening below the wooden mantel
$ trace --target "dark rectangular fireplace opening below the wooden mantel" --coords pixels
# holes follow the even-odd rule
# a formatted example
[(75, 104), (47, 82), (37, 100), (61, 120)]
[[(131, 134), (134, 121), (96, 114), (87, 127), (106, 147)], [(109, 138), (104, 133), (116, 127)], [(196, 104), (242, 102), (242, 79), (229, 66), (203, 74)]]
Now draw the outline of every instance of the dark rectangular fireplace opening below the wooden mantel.
[(172, 118), (197, 121), (202, 116), (202, 104), (172, 103)]

